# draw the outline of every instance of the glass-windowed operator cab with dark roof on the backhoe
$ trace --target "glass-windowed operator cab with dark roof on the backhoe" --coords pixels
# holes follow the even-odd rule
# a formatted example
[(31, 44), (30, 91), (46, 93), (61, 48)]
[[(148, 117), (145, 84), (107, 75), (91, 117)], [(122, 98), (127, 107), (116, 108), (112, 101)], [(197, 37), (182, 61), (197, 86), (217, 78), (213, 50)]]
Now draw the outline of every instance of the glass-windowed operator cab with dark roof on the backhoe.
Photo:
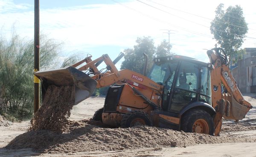
[(180, 113), (192, 103), (204, 102), (212, 106), (212, 64), (186, 56), (169, 56), (154, 59), (148, 78), (164, 86), (162, 108)]

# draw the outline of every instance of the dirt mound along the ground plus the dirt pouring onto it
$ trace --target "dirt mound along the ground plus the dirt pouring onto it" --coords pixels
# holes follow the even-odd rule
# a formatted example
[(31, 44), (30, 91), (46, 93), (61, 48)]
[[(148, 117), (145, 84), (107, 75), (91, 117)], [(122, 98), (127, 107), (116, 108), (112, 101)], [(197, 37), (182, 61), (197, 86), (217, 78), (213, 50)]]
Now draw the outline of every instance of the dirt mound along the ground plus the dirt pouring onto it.
[[(6, 149), (33, 149), (43, 153), (119, 151), (124, 149), (194, 146), (206, 143), (256, 142), (255, 137), (220, 137), (171, 129), (137, 126), (105, 128), (93, 120), (68, 121), (74, 103), (73, 87), (49, 86), (42, 107), (31, 121), (29, 132), (15, 137)], [(243, 127), (243, 128), (242, 128)], [(223, 132), (256, 129), (254, 126), (223, 126)]]

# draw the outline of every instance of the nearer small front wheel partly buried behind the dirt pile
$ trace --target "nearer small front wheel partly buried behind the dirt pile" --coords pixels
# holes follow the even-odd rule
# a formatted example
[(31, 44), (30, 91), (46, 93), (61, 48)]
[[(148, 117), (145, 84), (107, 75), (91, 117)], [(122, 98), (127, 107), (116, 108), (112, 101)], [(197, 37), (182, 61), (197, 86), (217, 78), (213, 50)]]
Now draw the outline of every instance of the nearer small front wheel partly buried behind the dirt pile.
[(131, 111), (126, 113), (121, 121), (120, 126), (122, 128), (128, 128), (133, 126), (148, 125), (152, 126), (150, 117), (148, 114), (142, 111)]

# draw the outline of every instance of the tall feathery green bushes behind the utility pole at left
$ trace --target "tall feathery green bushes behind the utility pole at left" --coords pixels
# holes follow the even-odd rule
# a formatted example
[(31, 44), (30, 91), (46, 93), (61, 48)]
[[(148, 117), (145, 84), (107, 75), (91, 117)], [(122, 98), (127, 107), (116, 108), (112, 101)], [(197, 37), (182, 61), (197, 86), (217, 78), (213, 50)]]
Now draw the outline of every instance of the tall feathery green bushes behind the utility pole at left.
[[(62, 43), (40, 39), (40, 68), (54, 67)], [(13, 35), (0, 36), (0, 114), (7, 118), (29, 118), (34, 99), (34, 41)]]

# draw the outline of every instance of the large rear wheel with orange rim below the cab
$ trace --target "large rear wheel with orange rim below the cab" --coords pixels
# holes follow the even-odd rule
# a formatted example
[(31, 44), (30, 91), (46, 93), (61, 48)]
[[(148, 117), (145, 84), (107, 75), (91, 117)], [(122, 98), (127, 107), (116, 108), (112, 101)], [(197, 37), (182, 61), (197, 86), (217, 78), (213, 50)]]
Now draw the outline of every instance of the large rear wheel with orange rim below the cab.
[(199, 134), (214, 134), (213, 118), (201, 109), (191, 109), (181, 119), (181, 130)]

